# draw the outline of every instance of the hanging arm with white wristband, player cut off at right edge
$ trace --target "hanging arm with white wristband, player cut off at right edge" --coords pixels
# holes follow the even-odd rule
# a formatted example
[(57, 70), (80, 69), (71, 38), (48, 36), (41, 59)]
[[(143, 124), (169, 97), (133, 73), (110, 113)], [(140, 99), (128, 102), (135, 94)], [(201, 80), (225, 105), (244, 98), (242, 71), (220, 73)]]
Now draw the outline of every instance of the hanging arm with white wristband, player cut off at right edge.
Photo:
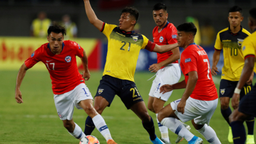
[(252, 75), (253, 67), (254, 67), (254, 59), (255, 57), (247, 57), (244, 61), (244, 68), (242, 70), (241, 77), (239, 79), (239, 82), (237, 83), (235, 92), (232, 97), (232, 107), (234, 109), (238, 108), (239, 106), (239, 97), (240, 97), (240, 91), (244, 87), (245, 83), (248, 81), (250, 76)]

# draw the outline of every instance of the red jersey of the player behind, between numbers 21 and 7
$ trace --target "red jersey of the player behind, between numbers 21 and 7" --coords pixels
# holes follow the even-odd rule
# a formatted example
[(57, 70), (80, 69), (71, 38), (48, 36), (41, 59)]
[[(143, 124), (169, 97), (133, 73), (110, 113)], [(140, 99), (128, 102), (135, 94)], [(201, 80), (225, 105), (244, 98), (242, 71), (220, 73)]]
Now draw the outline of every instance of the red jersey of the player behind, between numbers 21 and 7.
[[(158, 33), (158, 26), (153, 30), (154, 43), (157, 45), (167, 45), (177, 43), (177, 29), (172, 23), (167, 21), (164, 28)], [(172, 51), (165, 53), (157, 53), (157, 63), (162, 62), (172, 55)], [(173, 63), (179, 63), (178, 60)]]

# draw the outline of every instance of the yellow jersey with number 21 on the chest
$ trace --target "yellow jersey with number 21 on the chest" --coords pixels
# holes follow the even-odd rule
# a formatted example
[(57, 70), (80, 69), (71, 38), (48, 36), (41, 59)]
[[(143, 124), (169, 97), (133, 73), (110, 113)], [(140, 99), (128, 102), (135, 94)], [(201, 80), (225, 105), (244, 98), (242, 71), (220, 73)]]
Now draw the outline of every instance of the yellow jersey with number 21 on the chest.
[(134, 73), (141, 49), (148, 38), (134, 31), (122, 31), (116, 25), (104, 23), (101, 32), (108, 38), (108, 52), (103, 75), (134, 82)]

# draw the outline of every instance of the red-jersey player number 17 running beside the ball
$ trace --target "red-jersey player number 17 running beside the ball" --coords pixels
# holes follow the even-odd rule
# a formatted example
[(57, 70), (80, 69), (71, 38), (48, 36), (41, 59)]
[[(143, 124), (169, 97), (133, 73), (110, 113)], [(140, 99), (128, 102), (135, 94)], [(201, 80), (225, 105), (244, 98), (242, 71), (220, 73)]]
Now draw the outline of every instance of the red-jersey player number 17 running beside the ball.
[[(82, 144), (88, 142), (82, 129), (73, 121), (75, 106), (77, 109), (84, 109), (86, 114), (92, 118), (93, 123), (108, 144), (115, 144), (104, 119), (94, 109), (92, 95), (84, 83), (90, 78), (84, 49), (76, 42), (64, 41), (66, 29), (58, 23), (53, 23), (47, 33), (49, 43), (39, 47), (20, 67), (15, 87), (16, 101), (23, 103), (20, 85), (26, 71), (37, 62), (42, 61), (52, 79), (52, 91), (57, 113), (68, 132), (73, 137), (81, 140)], [(83, 75), (79, 74), (76, 56), (81, 58), (83, 63)]]

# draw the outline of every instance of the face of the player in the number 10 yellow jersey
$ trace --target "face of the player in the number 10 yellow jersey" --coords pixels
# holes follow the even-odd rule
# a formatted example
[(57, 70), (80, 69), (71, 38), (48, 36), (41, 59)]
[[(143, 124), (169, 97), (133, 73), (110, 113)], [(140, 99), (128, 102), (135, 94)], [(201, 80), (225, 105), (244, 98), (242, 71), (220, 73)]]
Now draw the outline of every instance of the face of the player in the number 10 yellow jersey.
[(228, 14), (228, 21), (229, 21), (230, 27), (236, 28), (237, 26), (240, 26), (243, 19), (244, 17), (242, 17), (240, 12), (230, 12)]

